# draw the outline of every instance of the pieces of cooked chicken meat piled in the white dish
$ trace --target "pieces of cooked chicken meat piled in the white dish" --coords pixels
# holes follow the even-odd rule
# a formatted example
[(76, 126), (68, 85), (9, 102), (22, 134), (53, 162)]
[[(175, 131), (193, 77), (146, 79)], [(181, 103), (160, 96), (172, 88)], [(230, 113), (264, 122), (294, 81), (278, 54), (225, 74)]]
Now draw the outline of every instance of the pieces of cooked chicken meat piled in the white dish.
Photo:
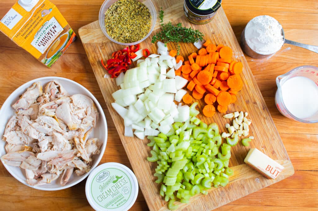
[(6, 125), (1, 160), (25, 170), (29, 185), (45, 185), (61, 176), (66, 185), (73, 175), (91, 168), (102, 143), (88, 138), (98, 121), (93, 100), (82, 94), (70, 96), (57, 81), (44, 89), (34, 83), (12, 107), (16, 114)]

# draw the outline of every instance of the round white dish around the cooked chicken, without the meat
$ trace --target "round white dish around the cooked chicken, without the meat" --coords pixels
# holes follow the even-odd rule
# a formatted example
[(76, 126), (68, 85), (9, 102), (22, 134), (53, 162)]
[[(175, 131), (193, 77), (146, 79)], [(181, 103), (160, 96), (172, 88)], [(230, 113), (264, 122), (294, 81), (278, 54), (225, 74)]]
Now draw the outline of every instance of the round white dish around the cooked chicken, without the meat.
[[(72, 96), (74, 94), (83, 94), (86, 96), (89, 96), (95, 103), (98, 113), (99, 113), (99, 118), (98, 122), (96, 124), (96, 127), (93, 129), (90, 137), (94, 138), (99, 138), (100, 141), (103, 142), (103, 145), (101, 146), (100, 149), (100, 155), (93, 155), (93, 166), (90, 169), (89, 172), (82, 176), (77, 176), (75, 173), (72, 174), (70, 180), (65, 186), (60, 185), (60, 178), (61, 176), (55, 180), (52, 181), (50, 184), (45, 184), (41, 186), (31, 186), (26, 183), (26, 177), (25, 177), (25, 171), (24, 169), (20, 169), (19, 167), (14, 167), (14, 166), (9, 166), (3, 163), (4, 167), (10, 172), (12, 176), (14, 176), (18, 181), (22, 182), (23, 184), (39, 189), (39, 190), (61, 190), (65, 188), (69, 188), (80, 181), (84, 180), (89, 173), (98, 165), (100, 162), (102, 156), (104, 155), (105, 148), (106, 148), (106, 143), (107, 143), (107, 122), (105, 118), (105, 114), (103, 112), (103, 109), (101, 108), (99, 102), (96, 100), (96, 98), (92, 95), (90, 91), (88, 91), (85, 87), (80, 85), (77, 82), (74, 82), (72, 80), (66, 79), (66, 78), (61, 78), (61, 77), (43, 77), (43, 78), (37, 78), (32, 81), (29, 81), (27, 83), (24, 83), (22, 86), (17, 88), (12, 94), (6, 99), (6, 101), (3, 103), (3, 106), (0, 109), (0, 156), (3, 156), (6, 154), (4, 146), (5, 142), (2, 141), (3, 139), (3, 132), (5, 129), (5, 126), (9, 119), (12, 117), (12, 115), (15, 114), (15, 110), (12, 108), (12, 104), (14, 104), (19, 97), (26, 91), (28, 87), (30, 87), (34, 82), (40, 82), (43, 87), (45, 85), (52, 81), (56, 80), (62, 84), (62, 86), (66, 89), (66, 91)], [(44, 89), (44, 88), (43, 88)]]

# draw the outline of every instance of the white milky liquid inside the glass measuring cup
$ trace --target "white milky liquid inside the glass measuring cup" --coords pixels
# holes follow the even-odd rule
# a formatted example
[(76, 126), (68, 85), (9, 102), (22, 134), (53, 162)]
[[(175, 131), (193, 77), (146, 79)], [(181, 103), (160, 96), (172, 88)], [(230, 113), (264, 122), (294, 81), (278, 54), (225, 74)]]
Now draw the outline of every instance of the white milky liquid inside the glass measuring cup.
[(292, 77), (283, 83), (281, 89), (286, 108), (297, 118), (304, 119), (318, 111), (318, 87), (309, 78)]

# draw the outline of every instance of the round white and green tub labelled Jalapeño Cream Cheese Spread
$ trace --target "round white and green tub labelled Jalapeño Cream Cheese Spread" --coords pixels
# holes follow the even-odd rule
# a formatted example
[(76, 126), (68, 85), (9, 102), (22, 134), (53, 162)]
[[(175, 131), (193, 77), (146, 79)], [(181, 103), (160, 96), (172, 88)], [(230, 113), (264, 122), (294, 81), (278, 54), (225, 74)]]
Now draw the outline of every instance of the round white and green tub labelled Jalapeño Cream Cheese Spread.
[(126, 166), (109, 162), (95, 168), (85, 186), (86, 198), (96, 211), (127, 211), (136, 201), (138, 181)]

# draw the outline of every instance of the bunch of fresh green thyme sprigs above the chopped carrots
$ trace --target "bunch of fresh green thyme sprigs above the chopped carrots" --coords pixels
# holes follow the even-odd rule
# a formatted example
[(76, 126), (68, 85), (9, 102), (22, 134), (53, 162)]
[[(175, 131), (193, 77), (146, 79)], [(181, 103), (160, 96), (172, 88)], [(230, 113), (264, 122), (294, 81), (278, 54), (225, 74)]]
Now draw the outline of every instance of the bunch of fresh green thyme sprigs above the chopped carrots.
[(195, 43), (199, 40), (203, 40), (204, 34), (199, 30), (194, 30), (191, 27), (183, 27), (181, 23), (178, 23), (175, 26), (172, 25), (171, 22), (164, 24), (162, 8), (159, 11), (159, 18), (162, 29), (152, 37), (152, 43), (156, 43), (157, 41), (162, 41), (164, 43), (175, 42), (177, 43), (177, 54), (179, 55), (179, 42)]

